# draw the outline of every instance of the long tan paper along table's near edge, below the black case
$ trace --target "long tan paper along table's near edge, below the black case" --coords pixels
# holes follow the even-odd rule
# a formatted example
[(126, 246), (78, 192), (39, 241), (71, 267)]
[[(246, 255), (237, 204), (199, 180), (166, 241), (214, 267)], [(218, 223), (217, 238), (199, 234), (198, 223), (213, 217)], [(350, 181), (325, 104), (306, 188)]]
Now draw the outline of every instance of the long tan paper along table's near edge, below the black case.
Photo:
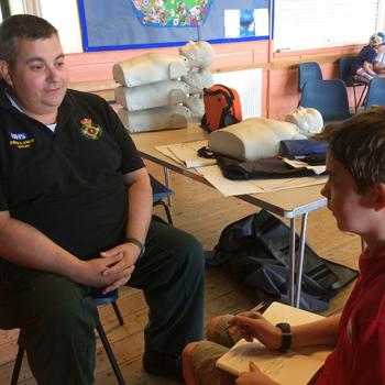
[(320, 185), (324, 184), (327, 180), (326, 176), (309, 176), (300, 178), (279, 179), (230, 180), (223, 177), (222, 172), (217, 165), (200, 167), (197, 170), (226, 197)]

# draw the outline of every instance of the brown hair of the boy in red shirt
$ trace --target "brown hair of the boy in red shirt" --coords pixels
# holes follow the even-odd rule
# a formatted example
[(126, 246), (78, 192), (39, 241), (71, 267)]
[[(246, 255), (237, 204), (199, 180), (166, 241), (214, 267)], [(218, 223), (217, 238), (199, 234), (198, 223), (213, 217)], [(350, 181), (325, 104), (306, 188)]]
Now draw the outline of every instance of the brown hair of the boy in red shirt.
[(351, 173), (359, 194), (376, 182), (385, 183), (384, 108), (327, 124), (315, 139), (328, 141), (328, 151)]

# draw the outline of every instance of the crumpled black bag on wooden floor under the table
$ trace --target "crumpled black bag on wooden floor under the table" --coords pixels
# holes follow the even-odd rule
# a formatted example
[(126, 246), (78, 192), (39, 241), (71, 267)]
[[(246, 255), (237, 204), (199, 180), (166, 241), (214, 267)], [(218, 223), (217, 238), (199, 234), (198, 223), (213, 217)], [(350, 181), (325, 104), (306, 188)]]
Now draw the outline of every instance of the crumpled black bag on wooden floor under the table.
[[(298, 235), (296, 246), (298, 251)], [(289, 228), (265, 210), (229, 224), (206, 262), (252, 288), (260, 301), (288, 302)], [(306, 244), (300, 308), (327, 309), (356, 276), (356, 271), (321, 258)]]

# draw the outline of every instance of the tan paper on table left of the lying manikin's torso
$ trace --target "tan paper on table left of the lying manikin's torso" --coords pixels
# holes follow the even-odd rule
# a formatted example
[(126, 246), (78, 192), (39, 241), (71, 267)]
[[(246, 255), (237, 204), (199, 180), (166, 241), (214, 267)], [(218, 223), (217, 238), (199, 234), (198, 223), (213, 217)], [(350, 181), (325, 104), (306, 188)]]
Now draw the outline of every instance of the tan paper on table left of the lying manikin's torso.
[(187, 168), (209, 166), (217, 163), (216, 160), (207, 160), (198, 155), (198, 150), (207, 146), (206, 141), (185, 142), (155, 146), (163, 155), (186, 166)]

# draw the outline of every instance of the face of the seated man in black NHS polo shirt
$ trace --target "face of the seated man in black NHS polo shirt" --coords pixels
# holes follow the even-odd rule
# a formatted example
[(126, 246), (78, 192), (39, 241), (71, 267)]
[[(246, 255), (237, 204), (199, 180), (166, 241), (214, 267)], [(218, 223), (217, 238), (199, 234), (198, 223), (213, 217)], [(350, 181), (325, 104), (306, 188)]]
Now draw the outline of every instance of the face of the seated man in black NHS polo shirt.
[(68, 72), (56, 35), (20, 40), (15, 64), (7, 70), (4, 79), (25, 113), (40, 117), (57, 111), (66, 92)]

